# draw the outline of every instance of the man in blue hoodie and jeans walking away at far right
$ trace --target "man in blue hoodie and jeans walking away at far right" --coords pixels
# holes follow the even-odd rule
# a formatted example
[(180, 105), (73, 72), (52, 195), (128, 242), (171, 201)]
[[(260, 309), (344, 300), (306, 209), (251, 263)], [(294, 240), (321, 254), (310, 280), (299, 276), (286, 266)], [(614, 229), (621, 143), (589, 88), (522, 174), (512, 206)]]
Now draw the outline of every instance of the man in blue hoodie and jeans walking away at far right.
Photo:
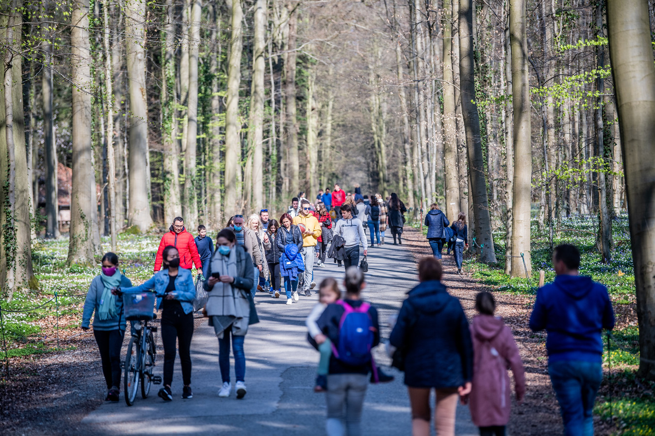
[(530, 317), (546, 329), (548, 374), (566, 436), (593, 435), (593, 403), (603, 378), (603, 329), (614, 328), (607, 288), (578, 275), (580, 252), (561, 244), (553, 252), (555, 281), (540, 288)]

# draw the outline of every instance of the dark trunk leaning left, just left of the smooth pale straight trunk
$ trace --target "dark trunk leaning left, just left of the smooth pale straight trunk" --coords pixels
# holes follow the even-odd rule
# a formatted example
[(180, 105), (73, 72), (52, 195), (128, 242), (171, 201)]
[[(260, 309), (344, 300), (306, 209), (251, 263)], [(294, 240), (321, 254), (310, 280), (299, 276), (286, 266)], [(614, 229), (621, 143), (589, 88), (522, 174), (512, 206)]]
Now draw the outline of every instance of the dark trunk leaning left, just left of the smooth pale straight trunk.
[[(477, 114), (476, 85), (473, 71), (473, 10), (471, 0), (460, 0), (459, 35), (460, 35), (460, 82), (462, 90), (462, 114), (466, 129), (468, 149), (468, 167), (470, 169), (471, 187), (473, 189), (474, 220), (476, 222), (476, 243), (483, 245), (480, 260), (495, 263), (491, 219), (489, 218), (489, 201), (487, 183), (484, 173), (484, 158), (480, 141), (480, 122)], [(528, 178), (529, 179), (529, 178)]]

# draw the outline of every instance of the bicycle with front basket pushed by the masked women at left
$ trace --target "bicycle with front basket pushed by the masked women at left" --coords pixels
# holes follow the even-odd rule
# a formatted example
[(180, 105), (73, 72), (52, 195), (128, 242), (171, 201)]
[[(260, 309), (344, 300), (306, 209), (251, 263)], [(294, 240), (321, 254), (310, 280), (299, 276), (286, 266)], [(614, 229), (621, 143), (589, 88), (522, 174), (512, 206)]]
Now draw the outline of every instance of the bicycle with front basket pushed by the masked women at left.
[(141, 386), (141, 397), (148, 397), (152, 384), (160, 384), (162, 378), (153, 375), (155, 367), (155, 339), (157, 327), (148, 322), (157, 318), (153, 312), (155, 293), (153, 291), (124, 293), (125, 319), (132, 321), (132, 337), (127, 347), (124, 363), (124, 394), (128, 406), (134, 404)]

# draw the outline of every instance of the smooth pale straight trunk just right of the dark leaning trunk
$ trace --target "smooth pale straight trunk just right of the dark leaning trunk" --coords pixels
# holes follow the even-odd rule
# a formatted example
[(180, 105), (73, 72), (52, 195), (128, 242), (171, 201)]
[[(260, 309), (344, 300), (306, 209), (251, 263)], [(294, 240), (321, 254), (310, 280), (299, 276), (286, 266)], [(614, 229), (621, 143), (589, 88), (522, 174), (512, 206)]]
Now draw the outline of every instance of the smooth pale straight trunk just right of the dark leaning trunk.
[(514, 195), (512, 224), (512, 276), (531, 275), (530, 200), (532, 150), (530, 141), (530, 84), (528, 78), (525, 0), (510, 0), (512, 44), (512, 100), (514, 105)]

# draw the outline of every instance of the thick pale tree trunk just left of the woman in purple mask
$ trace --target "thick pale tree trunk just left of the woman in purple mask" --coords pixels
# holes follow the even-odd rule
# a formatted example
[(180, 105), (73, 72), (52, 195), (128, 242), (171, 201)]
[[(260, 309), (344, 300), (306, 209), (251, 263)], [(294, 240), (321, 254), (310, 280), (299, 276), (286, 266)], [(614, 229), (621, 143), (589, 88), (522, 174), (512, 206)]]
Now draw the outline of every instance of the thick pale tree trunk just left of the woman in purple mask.
[[(94, 223), (98, 222), (96, 178), (92, 164), (91, 53), (88, 0), (73, 2), (71, 22), (73, 82), (73, 180), (68, 265), (94, 265)], [(96, 227), (97, 229), (97, 227)]]

